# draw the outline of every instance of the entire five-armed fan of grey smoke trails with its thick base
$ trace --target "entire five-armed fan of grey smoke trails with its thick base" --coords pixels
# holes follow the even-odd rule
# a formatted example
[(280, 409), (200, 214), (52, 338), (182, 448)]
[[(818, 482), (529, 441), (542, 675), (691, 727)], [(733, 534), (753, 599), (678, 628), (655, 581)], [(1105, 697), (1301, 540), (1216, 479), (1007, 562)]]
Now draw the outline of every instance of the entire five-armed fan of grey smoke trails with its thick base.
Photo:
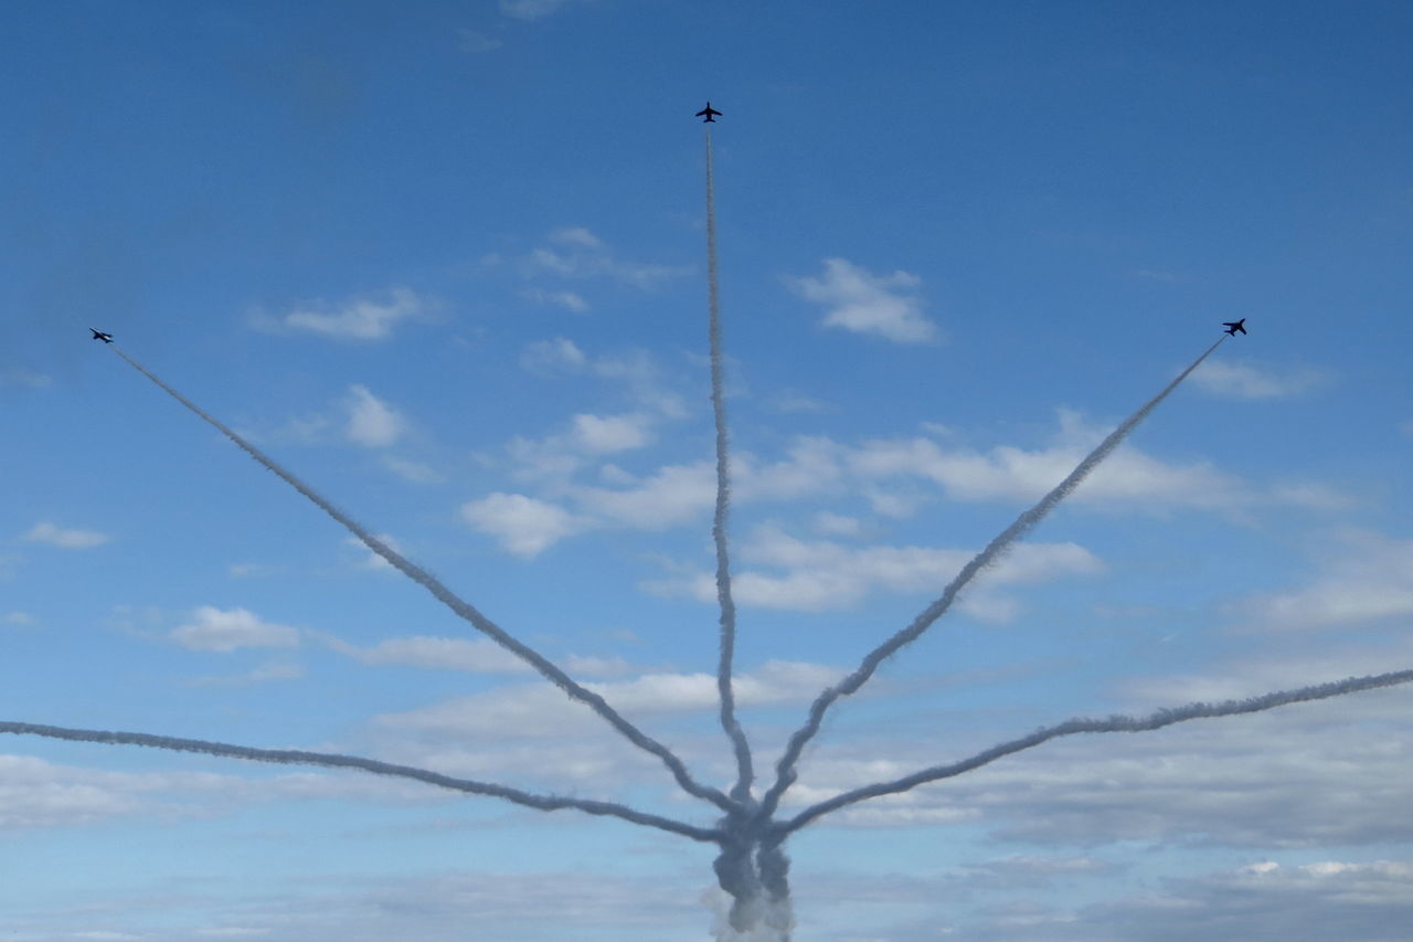
[[(709, 105), (698, 113), (705, 115), (708, 122), (721, 112)], [(715, 122), (712, 122), (715, 123)], [(237, 758), (257, 762), (276, 762), (284, 765), (314, 765), (325, 768), (342, 768), (386, 775), (401, 779), (411, 779), (432, 785), (435, 788), (452, 789), (469, 795), (485, 795), (500, 798), (526, 808), (537, 810), (575, 809), (588, 815), (617, 818), (633, 825), (653, 827), (656, 830), (678, 835), (694, 842), (716, 844), (719, 853), (712, 861), (712, 870), (721, 891), (712, 891), (712, 901), (719, 909), (715, 934), (718, 942), (790, 942), (794, 929), (794, 912), (790, 894), (790, 859), (786, 856), (786, 842), (791, 835), (825, 815), (886, 795), (897, 795), (918, 788), (930, 782), (954, 778), (965, 772), (982, 768), (1007, 755), (1039, 747), (1050, 740), (1077, 735), (1081, 733), (1140, 733), (1157, 730), (1188, 720), (1226, 717), (1245, 713), (1259, 713), (1280, 706), (1324, 700), (1328, 697), (1389, 687), (1413, 682), (1413, 670), (1399, 670), (1376, 676), (1349, 678), (1334, 683), (1324, 683), (1293, 690), (1267, 693), (1248, 700), (1228, 700), (1224, 703), (1191, 703), (1181, 707), (1164, 709), (1156, 713), (1130, 717), (1111, 716), (1108, 719), (1071, 719), (1057, 726), (1043, 727), (1029, 735), (993, 745), (989, 750), (976, 752), (969, 758), (945, 765), (923, 768), (911, 775), (886, 782), (862, 785), (852, 791), (841, 792), (832, 798), (817, 802), (798, 810), (794, 816), (777, 819), (777, 812), (784, 793), (794, 785), (798, 777), (800, 757), (805, 745), (820, 733), (829, 707), (841, 697), (856, 693), (877, 672), (885, 661), (892, 658), (904, 646), (920, 638), (933, 624), (935, 624), (951, 608), (957, 597), (966, 586), (986, 567), (999, 562), (1006, 552), (1040, 523), (1056, 506), (1060, 505), (1080, 484), (1118, 448), (1128, 436), (1147, 416), (1183, 383), (1187, 376), (1197, 369), (1226, 338), (1222, 337), (1198, 356), (1190, 366), (1177, 375), (1156, 396), (1147, 400), (1137, 412), (1125, 419), (1108, 437), (1104, 438), (1078, 465), (1034, 506), (1020, 513), (1016, 521), (992, 539), (971, 562), (968, 562), (952, 581), (942, 590), (942, 594), (924, 608), (906, 628), (887, 638), (883, 644), (870, 651), (859, 666), (844, 680), (827, 687), (812, 702), (807, 721), (788, 740), (780, 760), (776, 764), (776, 778), (764, 795), (757, 801), (752, 788), (755, 771), (752, 765), (750, 744), (745, 730), (736, 716), (736, 699), (733, 689), (733, 661), (736, 648), (736, 605), (732, 598), (731, 554), (728, 540), (728, 523), (731, 516), (731, 479), (729, 479), (729, 436), (725, 407), (723, 380), (723, 352), (719, 311), (719, 284), (716, 269), (716, 198), (715, 178), (712, 167), (711, 127), (705, 134), (706, 158), (706, 289), (708, 289), (708, 338), (711, 344), (711, 403), (715, 424), (715, 453), (716, 453), (716, 501), (712, 519), (712, 542), (716, 557), (716, 603), (719, 607), (719, 661), (716, 670), (716, 689), (719, 694), (719, 719), (722, 730), (726, 733), (735, 752), (736, 778), (729, 793), (721, 788), (702, 785), (688, 772), (684, 762), (657, 740), (646, 735), (627, 719), (619, 714), (598, 693), (572, 680), (562, 669), (554, 665), (541, 653), (524, 645), (507, 631), (496, 625), (475, 607), (454, 594), (434, 576), (408, 562), (386, 542), (373, 536), (362, 525), (338, 511), (307, 484), (295, 478), (283, 467), (276, 464), (263, 451), (227, 429), (225, 424), (195, 406), (185, 396), (158, 379), (147, 368), (112, 345), (112, 337), (95, 331), (95, 339), (106, 339), (113, 351), (127, 361), (136, 371), (147, 376), (160, 389), (172, 396), (177, 402), (203, 419), (223, 436), (230, 438), (246, 454), (278, 475), (290, 487), (298, 491), (309, 502), (333, 518), (353, 536), (356, 536), (372, 552), (384, 559), (404, 576), (420, 584), (438, 601), (447, 605), (459, 618), (489, 636), (502, 648), (510, 651), (526, 663), (531, 665), (543, 678), (558, 686), (567, 696), (588, 704), (601, 719), (612, 726), (620, 735), (639, 748), (656, 755), (671, 772), (677, 785), (687, 793), (698, 799), (711, 802), (719, 818), (712, 826), (697, 826), (675, 820), (661, 815), (637, 810), (623, 803), (608, 801), (589, 801), (567, 798), (560, 795), (541, 795), (521, 791), (504, 785), (479, 782), (463, 778), (454, 778), (421, 768), (394, 765), (370, 758), (355, 755), (339, 755), (331, 752), (309, 752), (300, 750), (267, 750), (226, 743), (212, 743), (205, 740), (177, 738), (167, 735), (153, 735), (146, 733), (114, 733), (103, 730), (83, 730), (57, 726), (41, 726), (34, 723), (0, 721), (0, 734), (40, 735), (57, 740), (81, 743), (102, 743), (110, 745), (141, 745), (179, 752), (203, 752), (223, 758)], [(92, 328), (90, 328), (92, 330)], [(552, 761), (550, 757), (547, 761)], [(718, 905), (719, 904), (719, 905)]]

